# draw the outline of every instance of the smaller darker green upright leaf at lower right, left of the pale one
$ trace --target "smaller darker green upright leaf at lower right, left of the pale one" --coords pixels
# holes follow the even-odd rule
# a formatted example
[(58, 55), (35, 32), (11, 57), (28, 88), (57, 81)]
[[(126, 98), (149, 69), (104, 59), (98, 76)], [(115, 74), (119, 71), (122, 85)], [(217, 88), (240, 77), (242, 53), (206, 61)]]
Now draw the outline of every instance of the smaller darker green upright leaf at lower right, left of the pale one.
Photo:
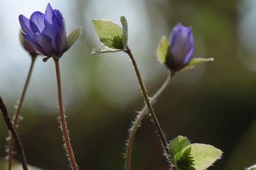
[(172, 163), (177, 166), (177, 163), (186, 157), (191, 152), (191, 142), (183, 136), (178, 136), (169, 144)]

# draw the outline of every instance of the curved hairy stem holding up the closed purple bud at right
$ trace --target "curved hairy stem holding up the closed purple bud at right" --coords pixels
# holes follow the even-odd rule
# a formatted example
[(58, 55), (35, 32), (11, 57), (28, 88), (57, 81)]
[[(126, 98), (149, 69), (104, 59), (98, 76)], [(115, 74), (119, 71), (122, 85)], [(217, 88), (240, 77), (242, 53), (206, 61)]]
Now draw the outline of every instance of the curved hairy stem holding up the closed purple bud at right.
[[(171, 84), (171, 81), (174, 79), (174, 74), (171, 74), (169, 71), (168, 77), (166, 81), (164, 81), (164, 84), (161, 86), (161, 88), (156, 91), (156, 94), (154, 94), (153, 97), (150, 98), (150, 103), (153, 105), (156, 102), (156, 99), (161, 96), (161, 94), (167, 89), (169, 84)], [(127, 140), (127, 150), (125, 155), (125, 169), (130, 170), (131, 169), (131, 157), (132, 157), (132, 146), (134, 142), (134, 138), (137, 132), (137, 129), (139, 127), (139, 124), (142, 122), (142, 119), (146, 115), (148, 107), (145, 105), (144, 108), (142, 108), (141, 111), (138, 111), (138, 115), (134, 120), (134, 123), (132, 123), (132, 127), (129, 130), (129, 138)]]

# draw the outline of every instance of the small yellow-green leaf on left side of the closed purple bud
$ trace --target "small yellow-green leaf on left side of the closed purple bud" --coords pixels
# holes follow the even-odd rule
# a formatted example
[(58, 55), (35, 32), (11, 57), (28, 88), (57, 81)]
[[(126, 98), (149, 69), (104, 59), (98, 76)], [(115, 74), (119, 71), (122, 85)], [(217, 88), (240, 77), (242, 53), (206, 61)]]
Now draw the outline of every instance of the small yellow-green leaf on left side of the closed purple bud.
[(156, 55), (160, 62), (166, 63), (166, 57), (168, 57), (170, 51), (169, 48), (170, 43), (168, 39), (164, 36), (163, 38), (161, 38), (159, 46), (157, 47), (156, 50)]

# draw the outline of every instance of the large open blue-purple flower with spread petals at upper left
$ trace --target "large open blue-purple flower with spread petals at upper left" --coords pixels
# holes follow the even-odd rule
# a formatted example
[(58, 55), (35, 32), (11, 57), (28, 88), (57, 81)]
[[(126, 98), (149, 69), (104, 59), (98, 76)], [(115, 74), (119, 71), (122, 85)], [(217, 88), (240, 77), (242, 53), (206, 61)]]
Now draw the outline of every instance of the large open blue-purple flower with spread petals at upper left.
[(28, 19), (18, 16), (23, 38), (38, 52), (48, 57), (61, 57), (68, 45), (63, 15), (48, 4), (46, 13), (36, 11)]

